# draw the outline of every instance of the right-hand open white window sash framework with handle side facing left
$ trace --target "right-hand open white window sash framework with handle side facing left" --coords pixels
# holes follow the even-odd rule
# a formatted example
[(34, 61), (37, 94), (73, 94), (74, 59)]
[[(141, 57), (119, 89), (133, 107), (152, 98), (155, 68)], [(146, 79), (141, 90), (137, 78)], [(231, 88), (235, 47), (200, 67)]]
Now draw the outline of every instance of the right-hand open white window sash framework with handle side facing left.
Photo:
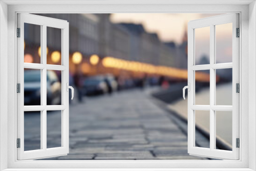
[[(216, 26), (232, 23), (232, 62), (216, 62)], [(195, 29), (209, 27), (210, 42), (209, 65), (196, 65), (195, 60)], [(188, 153), (193, 156), (215, 159), (239, 159), (239, 93), (236, 92), (236, 83), (239, 83), (239, 14), (223, 14), (188, 23)], [(241, 36), (241, 35), (240, 35)], [(200, 47), (199, 47), (200, 48)], [(232, 68), (232, 105), (216, 105), (216, 69)], [(195, 103), (195, 72), (209, 70), (210, 73), (210, 105), (196, 105)], [(209, 111), (209, 148), (196, 146), (196, 118), (195, 111)], [(231, 111), (232, 119), (232, 145), (231, 151), (216, 147), (216, 111)], [(241, 142), (241, 140), (240, 140)]]

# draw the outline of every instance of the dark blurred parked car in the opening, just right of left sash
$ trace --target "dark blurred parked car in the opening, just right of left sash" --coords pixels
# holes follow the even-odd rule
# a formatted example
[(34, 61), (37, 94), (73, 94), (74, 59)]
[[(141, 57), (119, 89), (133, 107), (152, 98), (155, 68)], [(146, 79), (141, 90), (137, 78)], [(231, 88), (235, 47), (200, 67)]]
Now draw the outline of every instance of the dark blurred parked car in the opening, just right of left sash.
[(83, 81), (84, 95), (99, 95), (108, 92), (108, 86), (103, 76), (88, 77)]

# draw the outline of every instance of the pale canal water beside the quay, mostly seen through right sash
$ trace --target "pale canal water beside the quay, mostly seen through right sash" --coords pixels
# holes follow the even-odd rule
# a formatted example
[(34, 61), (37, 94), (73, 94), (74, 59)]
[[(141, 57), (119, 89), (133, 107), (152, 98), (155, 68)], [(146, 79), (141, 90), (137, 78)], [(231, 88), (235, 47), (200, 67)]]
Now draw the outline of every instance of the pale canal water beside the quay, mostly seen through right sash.
[[(196, 94), (196, 104), (209, 104), (209, 88)], [(216, 87), (216, 104), (232, 105), (232, 83)], [(168, 105), (168, 108), (187, 118), (187, 98)], [(196, 124), (209, 131), (209, 111), (196, 111)], [(232, 145), (232, 112), (216, 112), (216, 135)]]

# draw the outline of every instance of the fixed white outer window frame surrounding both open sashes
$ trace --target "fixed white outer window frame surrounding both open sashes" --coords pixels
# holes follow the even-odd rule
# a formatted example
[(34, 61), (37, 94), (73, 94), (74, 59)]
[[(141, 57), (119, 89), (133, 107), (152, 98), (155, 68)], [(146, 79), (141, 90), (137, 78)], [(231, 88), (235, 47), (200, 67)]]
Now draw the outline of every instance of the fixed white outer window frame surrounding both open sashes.
[[(67, 3), (69, 5), (50, 5)], [(80, 1), (79, 1), (80, 2)], [(138, 1), (136, 1), (138, 2)], [(144, 4), (143, 4), (144, 2)], [(255, 46), (256, 46), (256, 9), (255, 2), (247, 1), (142, 1), (141, 4), (125, 1), (118, 5), (116, 1), (101, 1), (92, 4), (84, 1), (83, 5), (75, 4), (77, 1), (2, 1), (0, 2), (0, 166), (7, 170), (78, 170), (78, 168), (98, 168), (97, 170), (255, 170), (256, 169), (256, 70), (255, 70)], [(6, 5), (11, 3), (13, 5)], [(26, 4), (27, 5), (20, 5)], [(29, 3), (34, 3), (29, 5)], [(81, 3), (81, 2), (80, 2)], [(87, 3), (87, 4), (86, 4)], [(91, 3), (91, 4), (90, 4)], [(97, 5), (101, 3), (101, 5)], [(133, 3), (133, 5), (131, 5)], [(139, 3), (139, 2), (138, 2)], [(187, 4), (186, 4), (187, 3)], [(201, 5), (204, 3), (208, 5)], [(219, 5), (218, 5), (219, 3)], [(245, 5), (241, 5), (241, 4)], [(250, 3), (250, 5), (246, 5)], [(45, 4), (45, 5), (37, 5)], [(111, 5), (112, 4), (112, 5)], [(177, 5), (182, 4), (182, 5)], [(221, 4), (221, 5), (220, 5)], [(237, 5), (234, 5), (237, 4)], [(248, 12), (249, 11), (249, 12)], [(16, 156), (16, 14), (25, 13), (240, 13), (240, 160), (223, 161), (187, 161), (187, 160), (98, 160), (98, 161), (17, 161)], [(8, 16), (8, 20), (7, 20)], [(8, 34), (8, 37), (7, 37)], [(248, 36), (250, 34), (250, 36)], [(3, 38), (2, 38), (3, 37)], [(8, 40), (8, 41), (7, 41)], [(6, 44), (8, 42), (8, 44)], [(8, 51), (6, 50), (8, 48)], [(8, 58), (6, 58), (8, 56)], [(250, 61), (250, 62), (249, 62)], [(7, 67), (5, 67), (8, 66)], [(8, 71), (6, 74), (6, 70)], [(8, 91), (6, 89), (8, 88)], [(250, 93), (249, 90), (250, 89)], [(5, 95), (5, 96), (3, 96)], [(8, 101), (4, 102), (8, 97)], [(7, 108), (5, 107), (7, 105)], [(6, 115), (8, 114), (8, 115)], [(8, 124), (7, 124), (8, 123)], [(7, 130), (7, 131), (6, 131)], [(15, 134), (13, 134), (15, 133)], [(7, 145), (8, 144), (8, 145)], [(6, 149), (6, 146), (8, 148)], [(250, 150), (249, 150), (250, 149)], [(8, 156), (8, 157), (6, 157)], [(72, 168), (71, 168), (72, 167)], [(38, 169), (37, 169), (38, 168)], [(48, 168), (48, 169), (47, 169)], [(50, 169), (51, 168), (51, 169)], [(68, 169), (70, 168), (70, 169)], [(76, 169), (77, 168), (77, 169)], [(114, 168), (114, 169), (113, 169)], [(126, 169), (125, 169), (126, 168)], [(132, 169), (133, 168), (133, 169)], [(136, 169), (137, 168), (137, 169)], [(178, 169), (179, 168), (179, 169)], [(92, 169), (90, 169), (92, 170)], [(95, 169), (94, 169), (95, 170)]]

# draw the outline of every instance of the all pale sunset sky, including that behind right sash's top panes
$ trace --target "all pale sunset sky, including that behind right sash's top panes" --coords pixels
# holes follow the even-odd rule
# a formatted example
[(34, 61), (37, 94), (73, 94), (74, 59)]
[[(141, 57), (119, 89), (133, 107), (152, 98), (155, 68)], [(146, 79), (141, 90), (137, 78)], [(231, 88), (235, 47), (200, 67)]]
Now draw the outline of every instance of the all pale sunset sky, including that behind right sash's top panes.
[[(220, 14), (200, 13), (115, 13), (110, 16), (113, 23), (142, 24), (147, 32), (155, 32), (162, 41), (175, 41), (180, 44), (189, 20), (200, 19)], [(232, 25), (231, 25), (232, 26)], [(231, 62), (232, 39), (230, 24), (218, 26), (217, 60)], [(232, 28), (232, 27), (231, 27)], [(208, 29), (209, 30), (209, 29)], [(196, 35), (196, 60), (203, 55), (209, 56), (209, 32), (201, 29)], [(221, 30), (221, 31), (219, 31)]]

